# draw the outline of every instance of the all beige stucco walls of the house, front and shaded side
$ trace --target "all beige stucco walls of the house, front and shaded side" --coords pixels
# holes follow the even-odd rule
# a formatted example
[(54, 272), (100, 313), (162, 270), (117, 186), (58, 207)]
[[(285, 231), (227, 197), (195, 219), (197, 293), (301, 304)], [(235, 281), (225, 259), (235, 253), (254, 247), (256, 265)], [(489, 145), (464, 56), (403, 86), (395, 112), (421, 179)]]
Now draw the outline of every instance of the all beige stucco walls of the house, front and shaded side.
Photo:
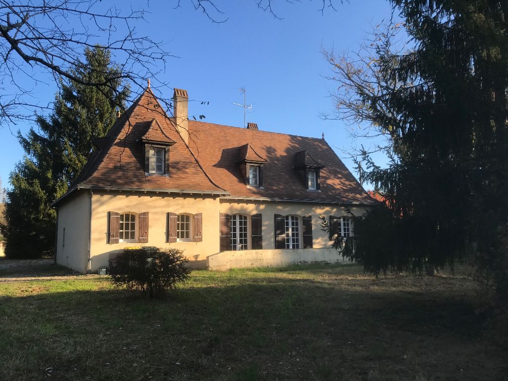
[[(91, 195), (91, 199), (90, 199)], [(89, 208), (91, 200), (91, 249), (88, 268)], [(352, 207), (355, 214), (365, 211)], [(108, 212), (149, 212), (148, 243), (107, 243)], [(203, 213), (203, 241), (166, 243), (166, 213)], [(219, 213), (261, 213), (263, 217), (263, 250), (219, 252)], [(346, 208), (316, 203), (224, 200), (212, 196), (146, 194), (78, 190), (58, 208), (57, 263), (80, 272), (96, 272), (108, 266), (109, 259), (124, 247), (157, 246), (184, 250), (195, 268), (226, 270), (231, 267), (282, 266), (292, 263), (340, 262), (342, 257), (330, 247), (328, 235), (321, 231), (319, 214), (346, 215)], [(312, 215), (312, 249), (275, 249), (274, 214)], [(250, 225), (250, 220), (248, 221)], [(62, 230), (66, 228), (66, 245)], [(250, 231), (250, 229), (249, 229)], [(250, 239), (249, 239), (250, 241)], [(249, 242), (250, 244), (250, 242)]]

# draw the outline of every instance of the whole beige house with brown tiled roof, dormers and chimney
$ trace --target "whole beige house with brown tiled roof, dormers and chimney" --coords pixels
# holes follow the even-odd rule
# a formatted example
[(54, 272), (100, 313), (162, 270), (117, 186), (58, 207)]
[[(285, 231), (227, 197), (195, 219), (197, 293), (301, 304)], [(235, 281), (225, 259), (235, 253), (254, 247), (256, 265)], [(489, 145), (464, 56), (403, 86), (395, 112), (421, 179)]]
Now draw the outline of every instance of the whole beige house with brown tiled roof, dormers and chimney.
[(195, 268), (339, 262), (320, 214), (376, 204), (324, 139), (169, 117), (148, 86), (55, 201), (56, 262), (85, 273), (124, 247), (183, 249)]

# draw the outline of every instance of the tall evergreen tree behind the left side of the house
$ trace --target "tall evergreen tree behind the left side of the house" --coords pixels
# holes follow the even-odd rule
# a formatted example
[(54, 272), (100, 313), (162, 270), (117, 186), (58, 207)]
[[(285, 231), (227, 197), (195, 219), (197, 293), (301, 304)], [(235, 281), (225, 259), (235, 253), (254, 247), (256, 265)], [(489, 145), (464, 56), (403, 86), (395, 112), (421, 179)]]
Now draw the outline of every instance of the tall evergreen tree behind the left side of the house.
[(85, 50), (87, 65), (75, 67), (77, 81), (61, 83), (54, 111), (46, 119), (37, 117), (38, 129), (30, 129), (19, 141), (26, 153), (11, 173), (12, 188), (6, 192), (6, 255), (37, 258), (51, 254), (54, 246), (56, 212), (51, 203), (63, 195), (90, 155), (94, 138), (111, 128), (117, 109), (124, 110), (129, 97), (120, 69), (111, 63), (110, 52), (100, 46)]

